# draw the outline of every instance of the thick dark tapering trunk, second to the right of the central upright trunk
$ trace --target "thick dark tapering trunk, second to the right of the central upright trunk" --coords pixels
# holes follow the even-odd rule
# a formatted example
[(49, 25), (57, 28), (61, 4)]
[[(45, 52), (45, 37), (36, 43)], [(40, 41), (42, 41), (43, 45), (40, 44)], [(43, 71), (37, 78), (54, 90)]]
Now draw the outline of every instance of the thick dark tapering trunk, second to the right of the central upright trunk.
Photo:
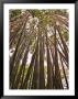
[(63, 84), (62, 84), (62, 77), (60, 77), (60, 70), (58, 66), (58, 55), (57, 55), (57, 42), (56, 42), (56, 25), (54, 26), (55, 30), (55, 57), (54, 57), (54, 65), (55, 65), (55, 88), (56, 89), (63, 89)]

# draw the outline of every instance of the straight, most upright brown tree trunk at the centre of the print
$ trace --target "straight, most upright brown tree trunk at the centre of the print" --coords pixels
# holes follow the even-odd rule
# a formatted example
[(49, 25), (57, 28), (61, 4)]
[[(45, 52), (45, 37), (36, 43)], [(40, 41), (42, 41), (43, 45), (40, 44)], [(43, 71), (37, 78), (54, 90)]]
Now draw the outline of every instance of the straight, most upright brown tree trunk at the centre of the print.
[(40, 41), (40, 89), (45, 89), (45, 76), (44, 76), (44, 37), (42, 34), (42, 28), (40, 28), (38, 34)]

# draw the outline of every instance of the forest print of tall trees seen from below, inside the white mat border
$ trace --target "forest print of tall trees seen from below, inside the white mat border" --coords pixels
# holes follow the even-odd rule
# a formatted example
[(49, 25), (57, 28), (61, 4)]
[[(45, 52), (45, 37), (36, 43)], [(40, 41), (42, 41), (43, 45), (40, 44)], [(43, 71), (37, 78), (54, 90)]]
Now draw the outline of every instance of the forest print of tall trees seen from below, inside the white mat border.
[(10, 88), (68, 89), (68, 10), (10, 10)]

